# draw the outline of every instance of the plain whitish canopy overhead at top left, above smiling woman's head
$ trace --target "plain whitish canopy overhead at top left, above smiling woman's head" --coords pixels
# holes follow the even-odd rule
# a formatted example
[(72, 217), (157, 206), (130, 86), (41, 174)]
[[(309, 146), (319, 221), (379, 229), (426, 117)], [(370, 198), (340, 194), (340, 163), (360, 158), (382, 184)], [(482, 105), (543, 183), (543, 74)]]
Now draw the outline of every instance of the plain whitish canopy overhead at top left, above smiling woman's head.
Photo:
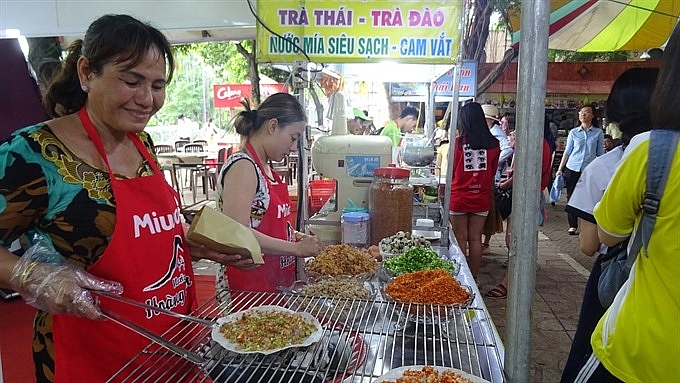
[(0, 38), (21, 34), (68, 41), (82, 37), (93, 20), (108, 13), (148, 21), (172, 43), (255, 38), (255, 18), (245, 0), (0, 0)]

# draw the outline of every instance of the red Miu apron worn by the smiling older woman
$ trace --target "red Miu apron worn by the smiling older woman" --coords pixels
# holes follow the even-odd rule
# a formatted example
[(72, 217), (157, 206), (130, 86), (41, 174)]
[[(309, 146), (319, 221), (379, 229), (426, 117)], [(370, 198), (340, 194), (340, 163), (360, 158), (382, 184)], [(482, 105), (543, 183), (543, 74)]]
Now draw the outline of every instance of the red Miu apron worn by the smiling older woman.
[[(123, 284), (123, 295), (187, 314), (196, 306), (194, 273), (180, 219), (179, 196), (139, 137), (128, 134), (154, 175), (116, 179), (85, 108), (87, 134), (104, 159), (116, 200), (116, 225), (101, 258), (87, 271)], [(101, 306), (158, 334), (177, 319), (101, 298)], [(103, 382), (150, 341), (110, 320), (53, 316), (55, 376), (59, 382)]]

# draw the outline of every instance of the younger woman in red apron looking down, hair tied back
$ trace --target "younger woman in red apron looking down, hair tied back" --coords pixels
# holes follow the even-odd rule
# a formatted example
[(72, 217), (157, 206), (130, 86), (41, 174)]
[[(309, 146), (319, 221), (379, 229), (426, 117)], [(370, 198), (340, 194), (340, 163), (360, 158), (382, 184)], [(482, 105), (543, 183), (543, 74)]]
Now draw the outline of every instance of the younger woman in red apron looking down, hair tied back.
[(246, 110), (235, 120), (244, 150), (227, 159), (220, 172), (222, 212), (254, 229), (264, 253), (264, 265), (252, 270), (226, 267), (218, 289), (277, 292), (295, 281), (296, 257), (315, 256), (320, 245), (312, 236), (296, 241), (291, 224), (288, 185), (269, 166), (296, 150), (306, 125), (305, 112), (287, 93), (269, 96), (257, 110)]

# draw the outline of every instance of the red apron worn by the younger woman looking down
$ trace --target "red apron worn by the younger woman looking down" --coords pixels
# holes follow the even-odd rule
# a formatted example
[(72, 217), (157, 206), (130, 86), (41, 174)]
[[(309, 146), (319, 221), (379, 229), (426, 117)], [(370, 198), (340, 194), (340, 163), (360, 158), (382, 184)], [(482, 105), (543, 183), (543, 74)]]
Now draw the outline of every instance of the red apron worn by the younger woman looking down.
[[(257, 166), (265, 175), (269, 186), (269, 207), (262, 217), (260, 225), (255, 229), (270, 237), (295, 242), (295, 230), (290, 223), (290, 207), (292, 202), (288, 195), (288, 185), (281, 181), (281, 177), (272, 171), (273, 184), (266, 176), (264, 166), (250, 143), (246, 150), (253, 157)], [(278, 292), (276, 286), (290, 286), (295, 282), (295, 257), (265, 254), (264, 265), (243, 271), (235, 267), (227, 267), (227, 281), (232, 290)]]

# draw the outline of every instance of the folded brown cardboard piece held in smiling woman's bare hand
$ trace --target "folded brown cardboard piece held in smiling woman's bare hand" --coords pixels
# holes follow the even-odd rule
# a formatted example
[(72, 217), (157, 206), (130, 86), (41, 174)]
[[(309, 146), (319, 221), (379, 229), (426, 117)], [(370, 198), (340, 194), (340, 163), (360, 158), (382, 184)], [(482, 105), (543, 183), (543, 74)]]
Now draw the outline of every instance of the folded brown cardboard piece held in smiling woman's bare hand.
[(203, 206), (191, 221), (187, 238), (220, 253), (240, 254), (252, 258), (255, 264), (264, 263), (252, 230), (209, 206)]

